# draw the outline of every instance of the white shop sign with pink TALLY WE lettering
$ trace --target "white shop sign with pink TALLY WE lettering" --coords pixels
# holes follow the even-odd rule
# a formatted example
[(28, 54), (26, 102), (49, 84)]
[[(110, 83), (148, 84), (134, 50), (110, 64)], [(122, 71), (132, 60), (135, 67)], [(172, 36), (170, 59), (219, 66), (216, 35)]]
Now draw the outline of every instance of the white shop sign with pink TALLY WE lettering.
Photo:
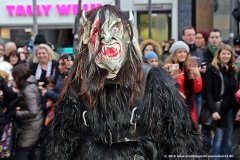
[[(82, 0), (85, 12), (108, 4), (109, 0)], [(37, 23), (40, 26), (72, 26), (78, 13), (78, 0), (37, 0)], [(33, 23), (32, 0), (6, 0), (0, 5), (0, 26), (29, 27)]]

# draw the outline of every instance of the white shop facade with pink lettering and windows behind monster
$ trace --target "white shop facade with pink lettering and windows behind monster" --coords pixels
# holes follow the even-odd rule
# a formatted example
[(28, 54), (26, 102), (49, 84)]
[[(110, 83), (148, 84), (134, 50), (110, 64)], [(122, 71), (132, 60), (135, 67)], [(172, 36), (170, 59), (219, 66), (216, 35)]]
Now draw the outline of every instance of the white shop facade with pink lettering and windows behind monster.
[[(108, 3), (109, 0), (82, 0), (82, 9), (87, 12)], [(133, 11), (139, 35), (148, 38), (148, 0), (121, 0), (120, 7), (126, 14)], [(159, 43), (170, 37), (178, 39), (178, 0), (152, 0), (151, 7), (152, 38)], [(36, 12), (38, 33), (56, 47), (72, 46), (78, 0), (37, 0)], [(33, 34), (32, 0), (2, 1), (0, 15), (0, 42), (27, 45)]]

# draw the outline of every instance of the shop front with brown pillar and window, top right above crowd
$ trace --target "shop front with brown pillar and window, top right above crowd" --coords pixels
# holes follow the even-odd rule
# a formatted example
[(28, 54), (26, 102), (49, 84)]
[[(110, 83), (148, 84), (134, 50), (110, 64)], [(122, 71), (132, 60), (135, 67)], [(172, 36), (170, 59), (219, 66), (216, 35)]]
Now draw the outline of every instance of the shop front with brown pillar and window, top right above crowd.
[[(239, 22), (232, 16), (233, 9), (238, 6), (238, 0), (196, 0), (196, 30), (210, 31), (217, 28), (223, 40), (231, 44), (239, 30)], [(236, 30), (231, 30), (231, 27)]]

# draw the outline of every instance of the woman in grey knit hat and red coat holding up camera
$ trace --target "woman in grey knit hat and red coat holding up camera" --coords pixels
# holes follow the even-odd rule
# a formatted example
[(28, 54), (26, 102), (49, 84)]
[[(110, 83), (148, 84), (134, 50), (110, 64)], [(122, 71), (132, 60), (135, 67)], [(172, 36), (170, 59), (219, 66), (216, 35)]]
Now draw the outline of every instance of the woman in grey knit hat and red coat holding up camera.
[(196, 58), (191, 60), (189, 46), (183, 41), (174, 42), (169, 52), (171, 55), (165, 60), (163, 68), (176, 79), (185, 104), (190, 107), (193, 120), (197, 123), (194, 93), (202, 90), (202, 78)]

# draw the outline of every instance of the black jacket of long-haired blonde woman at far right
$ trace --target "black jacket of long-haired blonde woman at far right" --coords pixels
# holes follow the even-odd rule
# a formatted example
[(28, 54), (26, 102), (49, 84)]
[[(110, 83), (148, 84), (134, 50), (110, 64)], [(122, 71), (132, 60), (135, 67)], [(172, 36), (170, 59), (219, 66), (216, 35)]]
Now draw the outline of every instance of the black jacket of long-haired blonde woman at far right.
[(221, 111), (219, 115), (221, 117), (218, 120), (217, 127), (227, 127), (227, 113), (230, 108), (233, 108), (235, 102), (235, 91), (237, 88), (237, 79), (233, 69), (228, 71), (221, 71), (224, 80), (224, 93), (221, 93), (222, 79), (220, 72), (213, 65), (207, 67), (204, 79), (204, 99), (206, 99), (206, 105), (209, 111), (212, 113), (217, 112), (215, 102), (222, 100)]

